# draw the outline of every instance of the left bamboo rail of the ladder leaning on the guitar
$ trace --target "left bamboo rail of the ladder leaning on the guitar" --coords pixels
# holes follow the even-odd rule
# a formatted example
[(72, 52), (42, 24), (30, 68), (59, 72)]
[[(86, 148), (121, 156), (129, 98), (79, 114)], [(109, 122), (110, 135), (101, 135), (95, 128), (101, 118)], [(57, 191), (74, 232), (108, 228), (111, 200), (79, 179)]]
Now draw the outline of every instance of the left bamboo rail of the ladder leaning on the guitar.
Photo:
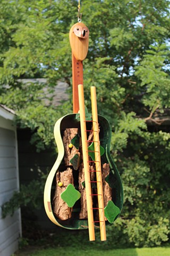
[(87, 213), (88, 213), (88, 227), (89, 227), (89, 240), (95, 241), (95, 227), (94, 227), (94, 215), (92, 210), (92, 197), (91, 197), (91, 183), (89, 172), (89, 156), (87, 145), (87, 133), (86, 133), (86, 115), (84, 107), (84, 91), (83, 85), (78, 85), (79, 91), (79, 106), (80, 106), (80, 126), (81, 126), (81, 141), (82, 141), (82, 153), (84, 164), (84, 179), (86, 186), (86, 199), (87, 199)]

